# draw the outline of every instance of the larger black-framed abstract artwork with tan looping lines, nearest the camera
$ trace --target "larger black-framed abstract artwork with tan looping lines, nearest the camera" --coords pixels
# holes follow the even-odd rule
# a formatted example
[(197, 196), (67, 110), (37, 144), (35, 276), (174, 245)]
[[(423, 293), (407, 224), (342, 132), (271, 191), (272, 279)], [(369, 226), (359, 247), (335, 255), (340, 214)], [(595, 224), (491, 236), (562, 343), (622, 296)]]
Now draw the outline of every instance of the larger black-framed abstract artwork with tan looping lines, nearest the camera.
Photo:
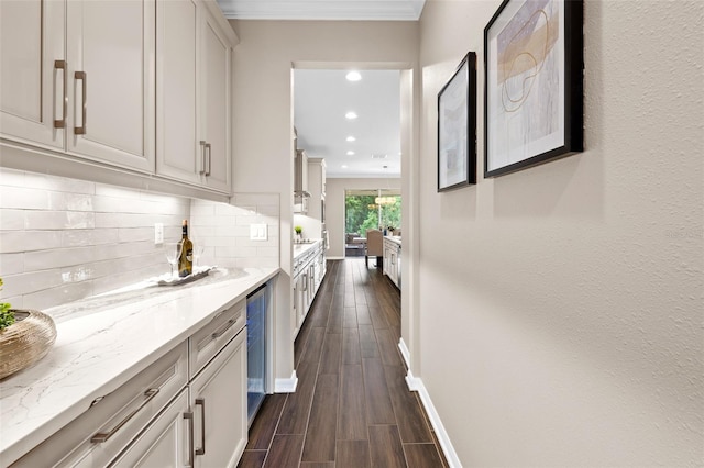
[(583, 151), (583, 0), (504, 0), (484, 30), (484, 177)]

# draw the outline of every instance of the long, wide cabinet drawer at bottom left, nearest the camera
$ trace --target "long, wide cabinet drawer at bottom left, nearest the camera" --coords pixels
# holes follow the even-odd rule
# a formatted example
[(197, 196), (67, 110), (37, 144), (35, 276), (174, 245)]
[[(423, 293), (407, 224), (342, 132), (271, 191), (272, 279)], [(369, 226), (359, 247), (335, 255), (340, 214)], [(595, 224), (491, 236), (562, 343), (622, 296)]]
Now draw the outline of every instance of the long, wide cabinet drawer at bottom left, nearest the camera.
[(101, 467), (188, 383), (184, 342), (33, 448), (12, 467)]

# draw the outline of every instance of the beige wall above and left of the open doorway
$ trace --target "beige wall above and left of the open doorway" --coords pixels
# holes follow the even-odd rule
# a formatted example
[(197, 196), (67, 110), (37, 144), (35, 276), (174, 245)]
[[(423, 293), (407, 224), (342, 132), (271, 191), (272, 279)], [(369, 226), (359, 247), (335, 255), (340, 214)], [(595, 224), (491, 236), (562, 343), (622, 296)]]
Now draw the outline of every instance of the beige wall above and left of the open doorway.
[(404, 69), (417, 66), (416, 22), (230, 21), (240, 37), (233, 60), (233, 181), (238, 192), (280, 194), (280, 265), (277, 281), (275, 374), (289, 378), (293, 233), (292, 69), (342, 67)]

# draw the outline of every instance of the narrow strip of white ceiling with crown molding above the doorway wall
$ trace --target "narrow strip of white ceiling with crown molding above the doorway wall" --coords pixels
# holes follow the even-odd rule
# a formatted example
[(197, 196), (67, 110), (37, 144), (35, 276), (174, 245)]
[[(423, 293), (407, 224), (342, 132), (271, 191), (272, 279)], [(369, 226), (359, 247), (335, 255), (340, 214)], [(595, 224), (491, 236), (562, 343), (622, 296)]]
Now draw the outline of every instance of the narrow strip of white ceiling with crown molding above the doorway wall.
[(238, 20), (416, 21), (425, 0), (218, 0)]

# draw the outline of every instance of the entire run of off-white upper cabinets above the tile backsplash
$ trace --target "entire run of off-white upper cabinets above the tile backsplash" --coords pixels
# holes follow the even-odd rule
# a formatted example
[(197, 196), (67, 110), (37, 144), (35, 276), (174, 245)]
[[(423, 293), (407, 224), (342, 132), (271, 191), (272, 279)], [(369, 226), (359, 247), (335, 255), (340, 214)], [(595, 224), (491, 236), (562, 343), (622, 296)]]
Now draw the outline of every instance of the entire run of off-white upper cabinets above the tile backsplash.
[(230, 193), (238, 38), (215, 0), (0, 0), (0, 40), (2, 138)]

